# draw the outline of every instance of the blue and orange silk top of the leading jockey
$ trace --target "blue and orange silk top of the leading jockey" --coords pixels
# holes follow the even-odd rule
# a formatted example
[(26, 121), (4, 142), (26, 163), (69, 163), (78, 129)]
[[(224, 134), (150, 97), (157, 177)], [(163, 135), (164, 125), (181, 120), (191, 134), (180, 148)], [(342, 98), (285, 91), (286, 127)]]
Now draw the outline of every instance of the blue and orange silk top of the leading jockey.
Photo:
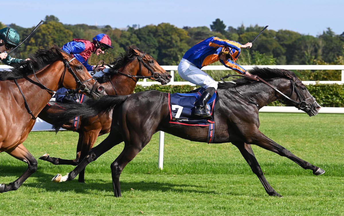
[[(233, 60), (224, 57), (220, 58), (224, 47), (228, 48)], [(183, 58), (190, 61), (199, 69), (219, 60), (227, 68), (235, 70), (238, 73), (245, 73), (246, 70), (235, 63), (235, 60), (240, 55), (240, 48), (241, 44), (238, 42), (223, 40), (218, 37), (209, 37), (187, 50)]]

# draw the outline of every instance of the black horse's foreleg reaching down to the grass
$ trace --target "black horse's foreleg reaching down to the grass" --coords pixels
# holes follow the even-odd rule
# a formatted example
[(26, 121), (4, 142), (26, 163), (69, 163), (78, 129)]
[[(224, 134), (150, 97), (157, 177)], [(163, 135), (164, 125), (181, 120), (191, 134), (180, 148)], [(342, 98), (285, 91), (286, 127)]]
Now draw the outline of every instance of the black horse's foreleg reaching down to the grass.
[(270, 196), (281, 196), (271, 187), (269, 182), (265, 179), (263, 171), (261, 171), (259, 163), (255, 155), (253, 154), (251, 145), (246, 144), (246, 143), (233, 143), (233, 145), (235, 145), (239, 149), (239, 151), (241, 152), (241, 155), (243, 155), (248, 165), (251, 167), (252, 172), (257, 175), (259, 181), (263, 184), (265, 191)]

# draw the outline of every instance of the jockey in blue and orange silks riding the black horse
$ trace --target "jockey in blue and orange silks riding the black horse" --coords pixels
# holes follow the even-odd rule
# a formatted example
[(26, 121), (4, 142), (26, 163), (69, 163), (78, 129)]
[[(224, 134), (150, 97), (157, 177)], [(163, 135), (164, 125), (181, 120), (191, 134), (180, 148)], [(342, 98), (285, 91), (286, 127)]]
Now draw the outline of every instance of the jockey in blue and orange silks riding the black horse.
[(206, 89), (195, 103), (194, 115), (201, 117), (210, 116), (210, 111), (206, 108), (206, 104), (217, 89), (217, 82), (202, 71), (201, 68), (219, 60), (224, 66), (238, 73), (256, 77), (256, 75), (251, 75), (243, 67), (235, 63), (240, 55), (240, 48), (250, 48), (251, 46), (252, 43), (241, 45), (235, 41), (209, 37), (186, 51), (178, 66), (179, 75), (184, 80)]

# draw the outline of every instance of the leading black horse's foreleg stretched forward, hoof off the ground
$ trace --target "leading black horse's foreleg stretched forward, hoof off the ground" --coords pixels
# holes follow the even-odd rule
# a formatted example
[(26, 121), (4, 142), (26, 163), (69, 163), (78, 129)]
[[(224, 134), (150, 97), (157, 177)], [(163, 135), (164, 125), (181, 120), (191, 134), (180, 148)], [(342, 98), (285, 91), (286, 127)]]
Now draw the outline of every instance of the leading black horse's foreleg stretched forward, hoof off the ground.
[(252, 133), (252, 136), (250, 136), (250, 138), (247, 140), (247, 143), (255, 144), (269, 151), (275, 152), (279, 154), (280, 156), (287, 157), (290, 160), (294, 161), (295, 163), (299, 164), (299, 166), (302, 167), (303, 169), (312, 170), (314, 175), (321, 175), (325, 173), (323, 169), (316, 167), (310, 164), (309, 162), (301, 160), (300, 158), (296, 157), (288, 149), (284, 148), (281, 145), (278, 145), (277, 143), (269, 139), (267, 136), (262, 134), (259, 130)]

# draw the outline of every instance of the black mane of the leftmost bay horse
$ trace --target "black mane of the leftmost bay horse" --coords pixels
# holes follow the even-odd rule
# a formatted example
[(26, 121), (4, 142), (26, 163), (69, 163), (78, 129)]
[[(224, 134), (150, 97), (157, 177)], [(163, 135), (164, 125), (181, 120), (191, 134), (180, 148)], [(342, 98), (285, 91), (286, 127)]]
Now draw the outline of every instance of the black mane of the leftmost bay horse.
[(15, 64), (11, 70), (0, 73), (0, 80), (24, 78), (33, 73), (33, 71), (38, 71), (56, 60), (62, 60), (62, 52), (66, 53), (56, 45), (50, 49), (38, 49), (35, 54), (29, 55), (30, 61)]

